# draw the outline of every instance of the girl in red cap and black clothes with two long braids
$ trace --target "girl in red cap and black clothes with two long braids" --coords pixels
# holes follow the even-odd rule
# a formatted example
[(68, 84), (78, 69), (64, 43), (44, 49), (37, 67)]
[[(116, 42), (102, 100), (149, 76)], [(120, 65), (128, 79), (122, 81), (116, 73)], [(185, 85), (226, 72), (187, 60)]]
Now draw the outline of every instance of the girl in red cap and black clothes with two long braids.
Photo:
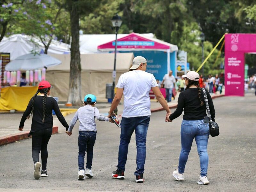
[[(38, 95), (38, 93), (40, 93)], [(34, 161), (34, 177), (39, 179), (47, 177), (46, 164), (48, 158), (47, 145), (52, 135), (52, 109), (58, 117), (60, 123), (68, 130), (68, 124), (60, 112), (60, 108), (56, 100), (49, 97), (51, 93), (51, 84), (48, 81), (41, 81), (38, 85), (36, 94), (31, 98), (28, 107), (23, 113), (20, 120), (19, 130), (23, 131), (26, 119), (33, 114), (31, 130), (28, 136), (32, 135), (32, 158)], [(41, 151), (42, 170), (40, 172), (41, 163), (39, 162), (39, 153)]]

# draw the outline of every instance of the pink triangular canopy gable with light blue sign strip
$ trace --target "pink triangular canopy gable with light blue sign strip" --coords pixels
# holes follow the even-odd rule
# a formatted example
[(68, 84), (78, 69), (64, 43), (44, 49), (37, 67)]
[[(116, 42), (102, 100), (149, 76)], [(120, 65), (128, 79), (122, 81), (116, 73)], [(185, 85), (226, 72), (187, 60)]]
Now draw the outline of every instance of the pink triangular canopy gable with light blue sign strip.
[[(98, 46), (98, 50), (115, 49), (115, 41), (108, 42)], [(156, 42), (151, 38), (146, 38), (136, 33), (131, 33), (128, 36), (117, 40), (117, 49), (147, 49), (147, 50), (167, 50), (170, 46)]]

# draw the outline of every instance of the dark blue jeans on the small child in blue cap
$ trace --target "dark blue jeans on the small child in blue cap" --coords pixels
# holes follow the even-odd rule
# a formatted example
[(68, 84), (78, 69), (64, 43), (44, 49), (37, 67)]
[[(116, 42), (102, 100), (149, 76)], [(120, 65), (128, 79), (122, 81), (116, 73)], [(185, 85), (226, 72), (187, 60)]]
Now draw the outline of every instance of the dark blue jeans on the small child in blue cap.
[(92, 169), (92, 155), (93, 146), (96, 140), (97, 132), (94, 131), (79, 131), (78, 135), (78, 169), (84, 170), (84, 156), (85, 151), (87, 152), (86, 157), (86, 168)]

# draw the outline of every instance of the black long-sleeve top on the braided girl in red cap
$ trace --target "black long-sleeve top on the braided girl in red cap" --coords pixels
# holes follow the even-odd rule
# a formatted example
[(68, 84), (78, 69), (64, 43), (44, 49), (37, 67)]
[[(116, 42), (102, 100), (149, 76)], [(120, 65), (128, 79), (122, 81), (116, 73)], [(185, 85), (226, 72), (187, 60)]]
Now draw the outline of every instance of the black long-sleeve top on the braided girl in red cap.
[[(43, 117), (43, 96), (36, 96), (34, 101), (34, 110), (32, 115), (32, 124), (31, 124), (31, 130), (30, 133), (39, 131), (42, 129), (51, 128), (53, 125), (53, 117), (52, 117), (52, 109), (54, 110), (56, 116), (58, 117), (60, 123), (68, 130), (68, 124), (63, 117), (63, 115), (60, 112), (60, 108), (56, 102), (56, 100), (52, 97), (46, 97), (46, 104), (45, 104), (45, 118)], [(26, 108), (25, 112), (23, 113), (23, 116), (20, 120), (20, 126), (23, 127), (24, 123), (26, 121), (27, 116), (31, 113), (32, 105), (31, 105), (32, 99), (28, 103), (28, 107)], [(44, 123), (42, 122), (44, 118)]]

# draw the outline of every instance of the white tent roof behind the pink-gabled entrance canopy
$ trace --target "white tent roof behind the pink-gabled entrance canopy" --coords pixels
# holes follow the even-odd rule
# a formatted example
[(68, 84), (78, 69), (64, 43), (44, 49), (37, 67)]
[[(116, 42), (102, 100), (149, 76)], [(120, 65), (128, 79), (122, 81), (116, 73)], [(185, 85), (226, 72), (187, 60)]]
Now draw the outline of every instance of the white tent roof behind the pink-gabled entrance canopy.
[[(122, 38), (128, 34), (117, 34), (117, 38)], [(153, 38), (153, 33), (145, 33), (143, 36)], [(116, 39), (115, 34), (104, 34), (104, 35), (80, 35), (79, 44), (80, 48), (93, 53), (99, 53), (98, 46), (101, 44), (108, 43), (109, 41), (114, 41)]]

